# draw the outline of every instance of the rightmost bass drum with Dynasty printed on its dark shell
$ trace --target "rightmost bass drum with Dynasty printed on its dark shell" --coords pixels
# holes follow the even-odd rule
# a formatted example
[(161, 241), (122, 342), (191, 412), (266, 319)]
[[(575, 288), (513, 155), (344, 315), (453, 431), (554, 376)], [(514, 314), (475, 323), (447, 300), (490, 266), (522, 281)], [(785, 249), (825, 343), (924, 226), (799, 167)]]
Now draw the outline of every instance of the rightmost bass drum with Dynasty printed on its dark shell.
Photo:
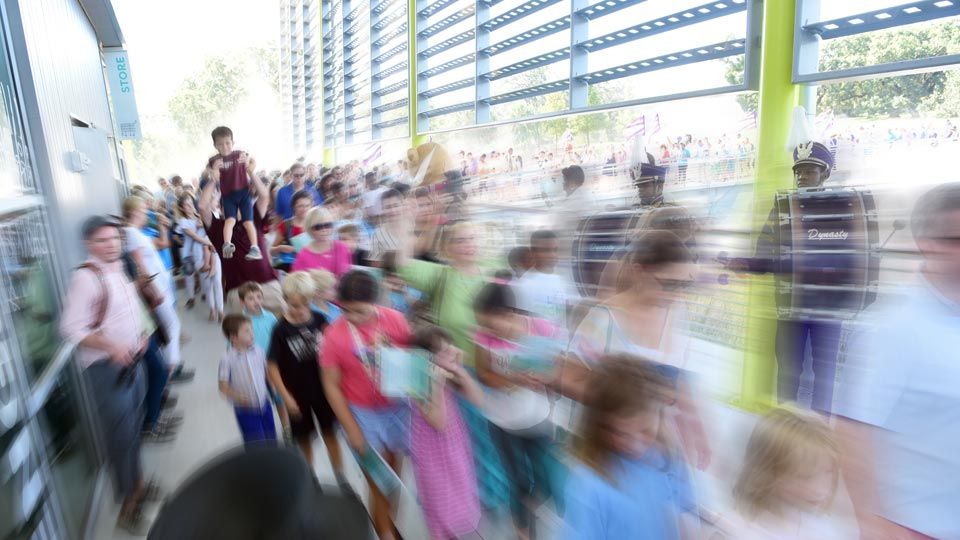
[(870, 191), (780, 192), (776, 209), (781, 316), (845, 319), (876, 300), (880, 233)]

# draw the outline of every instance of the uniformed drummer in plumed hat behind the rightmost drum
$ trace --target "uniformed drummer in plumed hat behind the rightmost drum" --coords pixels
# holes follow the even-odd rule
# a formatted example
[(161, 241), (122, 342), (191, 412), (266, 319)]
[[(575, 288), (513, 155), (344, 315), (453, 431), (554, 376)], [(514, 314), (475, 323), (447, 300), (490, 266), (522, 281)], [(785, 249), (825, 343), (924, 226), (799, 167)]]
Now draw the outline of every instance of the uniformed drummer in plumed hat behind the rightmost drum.
[[(819, 142), (800, 144), (793, 151), (793, 175), (797, 188), (819, 190), (830, 178), (834, 159), (830, 150)], [(757, 238), (757, 248), (752, 258), (731, 259), (728, 267), (735, 272), (755, 274), (789, 273), (791, 268), (781, 267), (777, 243), (777, 209)], [(788, 265), (790, 263), (787, 263)], [(778, 296), (779, 300), (779, 296)], [(810, 356), (813, 358), (812, 408), (824, 414), (830, 413), (833, 401), (833, 385), (836, 378), (837, 353), (840, 346), (841, 321), (812, 320), (797, 316), (781, 315), (777, 321), (777, 398), (781, 402), (796, 401), (803, 374), (803, 361), (810, 340)]]

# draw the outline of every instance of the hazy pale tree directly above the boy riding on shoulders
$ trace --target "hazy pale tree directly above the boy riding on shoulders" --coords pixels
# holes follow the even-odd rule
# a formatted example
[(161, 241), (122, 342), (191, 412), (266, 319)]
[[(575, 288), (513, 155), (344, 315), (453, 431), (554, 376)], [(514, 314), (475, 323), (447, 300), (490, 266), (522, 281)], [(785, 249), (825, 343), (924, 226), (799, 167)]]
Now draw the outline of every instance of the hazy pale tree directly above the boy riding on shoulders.
[(222, 56), (208, 58), (203, 69), (183, 81), (170, 99), (170, 116), (188, 140), (197, 141), (233, 112), (246, 95), (246, 66)]

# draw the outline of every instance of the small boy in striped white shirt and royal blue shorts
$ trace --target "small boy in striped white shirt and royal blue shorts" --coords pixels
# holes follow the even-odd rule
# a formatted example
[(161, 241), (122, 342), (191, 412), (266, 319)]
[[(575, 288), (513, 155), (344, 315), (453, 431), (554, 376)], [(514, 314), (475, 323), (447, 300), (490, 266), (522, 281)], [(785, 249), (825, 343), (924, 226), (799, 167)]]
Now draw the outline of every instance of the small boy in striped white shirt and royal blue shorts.
[(243, 315), (230, 314), (223, 319), (223, 335), (230, 345), (220, 360), (220, 393), (233, 403), (243, 442), (276, 440), (267, 361), (254, 344), (253, 324)]

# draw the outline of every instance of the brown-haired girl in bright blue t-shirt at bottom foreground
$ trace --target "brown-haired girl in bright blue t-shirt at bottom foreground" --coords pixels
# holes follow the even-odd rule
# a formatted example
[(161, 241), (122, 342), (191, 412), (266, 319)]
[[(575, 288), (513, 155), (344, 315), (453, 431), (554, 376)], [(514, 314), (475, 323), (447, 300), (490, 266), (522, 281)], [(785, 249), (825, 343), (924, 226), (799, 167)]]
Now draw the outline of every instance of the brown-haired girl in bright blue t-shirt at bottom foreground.
[(593, 372), (564, 497), (564, 539), (675, 540), (695, 524), (690, 480), (661, 430), (671, 383), (637, 357), (610, 356)]

